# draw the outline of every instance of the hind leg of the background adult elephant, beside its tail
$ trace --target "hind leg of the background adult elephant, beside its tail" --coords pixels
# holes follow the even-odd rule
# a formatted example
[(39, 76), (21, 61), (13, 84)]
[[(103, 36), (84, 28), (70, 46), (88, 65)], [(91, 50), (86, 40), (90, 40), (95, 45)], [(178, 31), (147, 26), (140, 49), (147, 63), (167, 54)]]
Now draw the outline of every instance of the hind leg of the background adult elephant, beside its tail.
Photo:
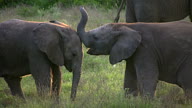
[(137, 22), (133, 0), (127, 0), (125, 16), (127, 23)]

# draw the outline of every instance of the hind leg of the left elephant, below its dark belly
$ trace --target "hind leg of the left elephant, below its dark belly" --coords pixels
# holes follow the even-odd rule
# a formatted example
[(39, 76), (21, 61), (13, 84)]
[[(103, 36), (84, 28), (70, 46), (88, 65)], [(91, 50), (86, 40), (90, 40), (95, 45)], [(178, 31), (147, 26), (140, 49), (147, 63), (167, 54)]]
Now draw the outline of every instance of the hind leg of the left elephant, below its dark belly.
[(22, 78), (4, 77), (4, 79), (7, 82), (13, 96), (19, 96), (19, 97), (25, 99), (22, 89), (21, 89), (21, 83), (20, 83)]

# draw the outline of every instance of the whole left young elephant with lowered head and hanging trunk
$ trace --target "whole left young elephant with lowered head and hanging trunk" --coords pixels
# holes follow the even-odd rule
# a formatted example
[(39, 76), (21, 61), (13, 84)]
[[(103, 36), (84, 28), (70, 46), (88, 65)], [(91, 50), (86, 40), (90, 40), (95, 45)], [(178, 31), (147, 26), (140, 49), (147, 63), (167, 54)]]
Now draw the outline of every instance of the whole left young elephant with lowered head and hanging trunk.
[[(54, 23), (54, 22), (53, 22)], [(76, 96), (81, 75), (82, 45), (66, 24), (9, 20), (0, 23), (0, 77), (13, 95), (24, 98), (20, 81), (31, 74), (39, 95), (58, 97), (64, 65), (73, 72), (71, 98)]]

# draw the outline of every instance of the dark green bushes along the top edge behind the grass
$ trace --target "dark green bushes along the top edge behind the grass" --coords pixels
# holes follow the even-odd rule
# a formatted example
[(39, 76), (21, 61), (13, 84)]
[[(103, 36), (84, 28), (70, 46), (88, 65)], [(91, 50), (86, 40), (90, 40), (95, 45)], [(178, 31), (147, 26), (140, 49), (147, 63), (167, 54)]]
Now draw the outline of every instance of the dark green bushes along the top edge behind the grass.
[(48, 9), (58, 3), (64, 7), (74, 5), (92, 5), (105, 8), (116, 7), (121, 0), (0, 0), (0, 7), (15, 6), (17, 4), (26, 4), (30, 6), (38, 6), (41, 9)]

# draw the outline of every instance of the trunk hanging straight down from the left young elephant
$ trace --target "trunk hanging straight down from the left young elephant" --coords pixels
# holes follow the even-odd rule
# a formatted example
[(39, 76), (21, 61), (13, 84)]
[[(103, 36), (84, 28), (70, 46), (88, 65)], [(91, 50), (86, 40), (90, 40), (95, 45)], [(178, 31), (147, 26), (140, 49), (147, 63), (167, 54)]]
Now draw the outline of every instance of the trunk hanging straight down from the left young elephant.
[(75, 100), (77, 87), (81, 77), (81, 64), (82, 64), (82, 59), (80, 59), (78, 63), (74, 63), (73, 65), (73, 79), (72, 79), (72, 88), (71, 88), (72, 101)]

